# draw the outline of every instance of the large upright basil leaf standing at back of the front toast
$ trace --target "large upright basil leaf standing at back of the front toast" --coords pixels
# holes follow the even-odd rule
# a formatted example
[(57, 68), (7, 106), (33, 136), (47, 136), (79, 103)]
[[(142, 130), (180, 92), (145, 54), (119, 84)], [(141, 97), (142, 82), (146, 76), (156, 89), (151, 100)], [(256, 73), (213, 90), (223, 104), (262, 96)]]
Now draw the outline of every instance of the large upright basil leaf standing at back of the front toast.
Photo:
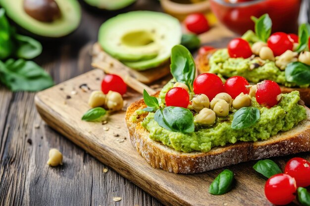
[(182, 45), (175, 45), (171, 50), (170, 70), (177, 82), (185, 83), (193, 91), (196, 66), (191, 52)]

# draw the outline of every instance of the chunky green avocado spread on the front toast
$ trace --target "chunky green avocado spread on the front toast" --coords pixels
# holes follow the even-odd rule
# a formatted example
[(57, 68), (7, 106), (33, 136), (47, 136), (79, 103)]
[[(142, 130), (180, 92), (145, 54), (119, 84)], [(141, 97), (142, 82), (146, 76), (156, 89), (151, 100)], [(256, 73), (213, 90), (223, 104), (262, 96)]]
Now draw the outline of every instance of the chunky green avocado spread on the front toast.
[[(221, 52), (225, 54), (225, 51), (219, 51), (219, 53)], [(216, 60), (215, 57), (213, 62)], [(171, 84), (171, 82), (169, 83)], [(164, 91), (171, 86), (169, 83), (161, 92), (159, 101), (164, 96)], [(177, 151), (207, 152), (213, 147), (224, 146), (227, 143), (266, 140), (280, 131), (290, 130), (301, 121), (307, 119), (306, 109), (298, 104), (299, 100), (299, 92), (293, 91), (283, 94), (279, 104), (268, 109), (260, 107), (255, 97), (253, 97), (251, 106), (258, 108), (260, 119), (253, 126), (240, 130), (231, 128), (235, 111), (225, 118), (217, 118), (216, 123), (211, 126), (195, 125), (195, 132), (186, 134), (169, 131), (159, 126), (154, 120), (154, 113), (149, 113), (141, 124), (150, 132), (151, 139), (159, 141)]]

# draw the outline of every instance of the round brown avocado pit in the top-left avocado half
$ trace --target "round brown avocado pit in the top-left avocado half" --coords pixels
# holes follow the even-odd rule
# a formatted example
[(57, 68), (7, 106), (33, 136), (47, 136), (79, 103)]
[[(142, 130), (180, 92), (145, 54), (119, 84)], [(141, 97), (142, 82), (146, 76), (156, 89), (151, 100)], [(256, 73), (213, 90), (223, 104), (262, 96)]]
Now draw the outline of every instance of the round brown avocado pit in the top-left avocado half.
[(29, 16), (42, 22), (52, 22), (61, 16), (55, 0), (24, 0), (23, 8)]

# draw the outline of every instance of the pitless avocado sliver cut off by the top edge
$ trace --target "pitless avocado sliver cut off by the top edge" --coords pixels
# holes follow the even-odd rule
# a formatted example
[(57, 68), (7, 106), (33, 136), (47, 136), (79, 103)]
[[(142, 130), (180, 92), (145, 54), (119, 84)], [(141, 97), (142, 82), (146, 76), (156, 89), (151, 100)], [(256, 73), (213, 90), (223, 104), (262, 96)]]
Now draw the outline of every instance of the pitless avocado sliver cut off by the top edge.
[(91, 6), (106, 10), (118, 10), (129, 6), (136, 0), (84, 0)]

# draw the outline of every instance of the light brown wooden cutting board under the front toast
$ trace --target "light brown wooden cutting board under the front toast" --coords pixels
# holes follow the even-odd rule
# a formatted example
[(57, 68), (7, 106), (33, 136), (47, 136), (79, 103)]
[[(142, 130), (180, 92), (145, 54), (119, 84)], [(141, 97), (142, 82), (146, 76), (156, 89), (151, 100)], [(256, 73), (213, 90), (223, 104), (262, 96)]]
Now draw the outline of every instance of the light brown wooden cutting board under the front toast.
[[(223, 169), (184, 175), (151, 167), (130, 143), (124, 111), (111, 115), (104, 125), (81, 121), (82, 115), (90, 109), (87, 104), (89, 95), (92, 90), (100, 89), (102, 79), (103, 71), (93, 70), (39, 92), (35, 102), (41, 117), (52, 128), (167, 206), (271, 205), (264, 196), (266, 179), (252, 168), (256, 161), (227, 167), (235, 173), (235, 186), (225, 195), (213, 196), (208, 194), (208, 187)], [(140, 98), (142, 95), (129, 89), (125, 101), (128, 106)], [(310, 160), (309, 153), (298, 156)], [(290, 158), (273, 160), (283, 168)]]

